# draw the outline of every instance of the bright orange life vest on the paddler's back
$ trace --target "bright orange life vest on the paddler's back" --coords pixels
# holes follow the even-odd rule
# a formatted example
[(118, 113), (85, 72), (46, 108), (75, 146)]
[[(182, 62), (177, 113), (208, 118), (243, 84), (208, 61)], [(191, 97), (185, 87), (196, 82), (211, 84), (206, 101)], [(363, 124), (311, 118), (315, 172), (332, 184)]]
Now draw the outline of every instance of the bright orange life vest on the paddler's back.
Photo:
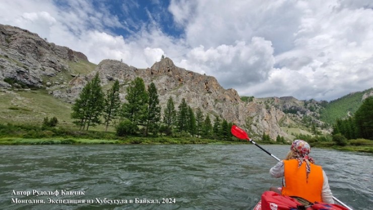
[(310, 164), (311, 172), (306, 181), (305, 163), (298, 168), (297, 160), (284, 161), (285, 185), (282, 195), (302, 197), (310, 202), (322, 202), (323, 169), (321, 166)]

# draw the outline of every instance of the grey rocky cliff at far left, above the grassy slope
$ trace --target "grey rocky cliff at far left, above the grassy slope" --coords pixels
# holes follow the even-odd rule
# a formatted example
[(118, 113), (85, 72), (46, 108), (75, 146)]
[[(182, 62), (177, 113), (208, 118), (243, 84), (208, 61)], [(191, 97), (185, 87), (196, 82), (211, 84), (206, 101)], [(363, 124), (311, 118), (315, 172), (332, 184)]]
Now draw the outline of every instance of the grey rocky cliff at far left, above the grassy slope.
[(37, 34), (0, 24), (0, 87), (10, 87), (4, 79), (43, 87), (43, 78), (69, 72), (68, 62), (88, 61), (87, 57), (65, 46), (58, 46)]

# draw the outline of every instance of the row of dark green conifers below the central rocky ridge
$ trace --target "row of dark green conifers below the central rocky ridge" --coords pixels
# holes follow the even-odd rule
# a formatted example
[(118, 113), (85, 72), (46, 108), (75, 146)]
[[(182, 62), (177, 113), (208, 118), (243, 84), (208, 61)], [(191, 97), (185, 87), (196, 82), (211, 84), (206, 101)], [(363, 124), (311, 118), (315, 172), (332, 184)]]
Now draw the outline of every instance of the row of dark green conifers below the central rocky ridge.
[(204, 115), (200, 108), (192, 109), (185, 98), (175, 108), (173, 98), (167, 100), (165, 109), (159, 104), (157, 88), (152, 82), (147, 88), (144, 80), (135, 78), (126, 88), (126, 102), (119, 97), (119, 81), (103, 93), (98, 73), (82, 89), (72, 107), (71, 118), (81, 130), (90, 126), (114, 126), (118, 136), (191, 136), (210, 139), (233, 140), (230, 128), (233, 123), (215, 116)]

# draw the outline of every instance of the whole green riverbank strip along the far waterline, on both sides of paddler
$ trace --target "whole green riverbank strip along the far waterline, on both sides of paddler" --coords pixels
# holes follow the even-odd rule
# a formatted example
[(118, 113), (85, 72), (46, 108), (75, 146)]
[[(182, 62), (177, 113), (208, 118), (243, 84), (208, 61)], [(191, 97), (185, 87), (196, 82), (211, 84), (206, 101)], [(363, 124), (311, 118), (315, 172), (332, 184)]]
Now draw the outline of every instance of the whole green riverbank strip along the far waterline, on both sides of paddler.
[[(283, 144), (275, 141), (256, 140), (258, 144)], [(230, 138), (204, 139), (188, 135), (174, 136), (117, 136), (114, 131), (83, 131), (73, 127), (43, 128), (37, 125), (0, 124), (0, 145), (48, 145), (48, 144), (250, 144), (245, 140)], [(311, 142), (312, 147), (329, 148), (341, 151), (373, 153), (373, 140), (347, 140), (345, 146), (334, 141)]]

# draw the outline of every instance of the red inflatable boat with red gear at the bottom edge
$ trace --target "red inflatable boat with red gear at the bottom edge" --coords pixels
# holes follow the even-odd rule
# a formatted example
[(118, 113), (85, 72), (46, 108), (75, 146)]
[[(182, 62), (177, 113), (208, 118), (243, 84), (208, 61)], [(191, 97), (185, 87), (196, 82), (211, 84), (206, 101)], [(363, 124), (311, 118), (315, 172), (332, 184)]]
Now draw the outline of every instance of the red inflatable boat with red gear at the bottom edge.
[(329, 203), (309, 203), (303, 198), (289, 197), (285, 195), (280, 195), (273, 191), (265, 191), (262, 194), (261, 199), (255, 205), (253, 210), (316, 210), (316, 209), (331, 209), (331, 210), (348, 210), (348, 208)]

